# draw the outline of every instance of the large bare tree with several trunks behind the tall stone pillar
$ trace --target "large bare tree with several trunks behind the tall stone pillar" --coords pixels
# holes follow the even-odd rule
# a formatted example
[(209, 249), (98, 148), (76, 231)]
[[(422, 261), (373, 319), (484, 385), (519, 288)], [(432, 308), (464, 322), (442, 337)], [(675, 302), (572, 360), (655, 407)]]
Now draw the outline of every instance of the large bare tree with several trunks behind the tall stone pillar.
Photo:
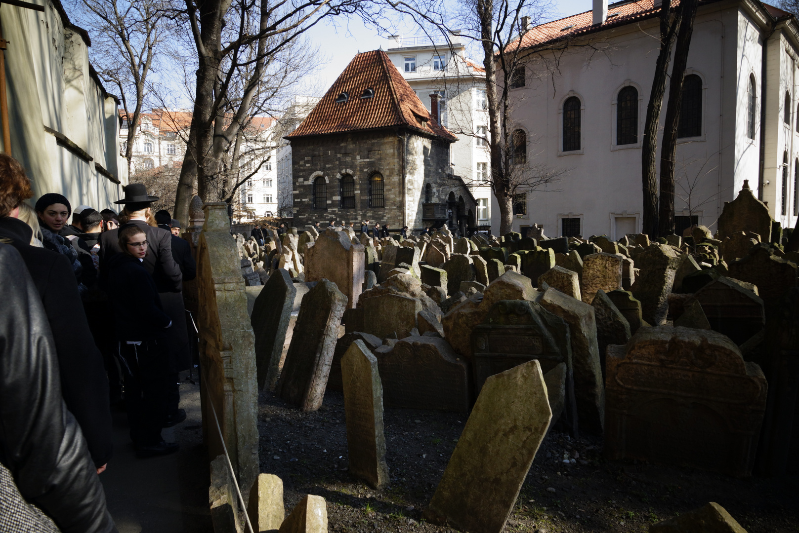
[(185, 0), (181, 14), (198, 65), (177, 219), (186, 219), (195, 188), (206, 201), (229, 195), (222, 157), (255, 114), (264, 78), (287, 64), (280, 54), (324, 18), (358, 6), (359, 0)]

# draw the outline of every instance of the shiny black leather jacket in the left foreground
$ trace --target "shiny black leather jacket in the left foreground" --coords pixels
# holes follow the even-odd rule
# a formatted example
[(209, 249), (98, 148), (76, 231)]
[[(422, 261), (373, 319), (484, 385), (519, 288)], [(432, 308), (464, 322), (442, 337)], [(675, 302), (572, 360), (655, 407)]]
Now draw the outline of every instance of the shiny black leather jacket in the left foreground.
[[(62, 400), (48, 318), (14, 248), (0, 244), (0, 461), (22, 496), (64, 533), (116, 531), (86, 442)], [(77, 295), (74, 276), (66, 274)]]

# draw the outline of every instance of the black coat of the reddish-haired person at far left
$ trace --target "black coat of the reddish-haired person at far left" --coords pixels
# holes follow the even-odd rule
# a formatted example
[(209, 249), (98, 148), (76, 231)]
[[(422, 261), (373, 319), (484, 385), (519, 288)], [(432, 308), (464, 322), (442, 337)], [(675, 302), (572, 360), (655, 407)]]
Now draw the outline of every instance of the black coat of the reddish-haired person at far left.
[[(94, 463), (111, 457), (111, 412), (108, 377), (94, 343), (78, 294), (78, 283), (66, 256), (30, 246), (33, 230), (22, 220), (0, 218), (0, 240), (22, 255), (33, 278), (53, 332), (61, 389), (66, 406), (81, 424)], [(0, 306), (6, 308), (3, 302)]]

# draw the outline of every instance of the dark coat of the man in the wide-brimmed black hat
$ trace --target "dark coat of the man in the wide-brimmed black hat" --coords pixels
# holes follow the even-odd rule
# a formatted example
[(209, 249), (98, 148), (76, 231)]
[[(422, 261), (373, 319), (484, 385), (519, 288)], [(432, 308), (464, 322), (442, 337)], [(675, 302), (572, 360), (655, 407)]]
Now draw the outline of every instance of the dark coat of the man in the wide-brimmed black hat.
[[(147, 235), (149, 247), (142, 265), (153, 276), (158, 292), (180, 292), (182, 275), (172, 255), (173, 235), (160, 227), (149, 226), (144, 220), (133, 219), (129, 223), (141, 227)], [(118, 228), (105, 231), (100, 238), (100, 280), (104, 284), (108, 275), (105, 264), (113, 255), (121, 253), (118, 238)]]

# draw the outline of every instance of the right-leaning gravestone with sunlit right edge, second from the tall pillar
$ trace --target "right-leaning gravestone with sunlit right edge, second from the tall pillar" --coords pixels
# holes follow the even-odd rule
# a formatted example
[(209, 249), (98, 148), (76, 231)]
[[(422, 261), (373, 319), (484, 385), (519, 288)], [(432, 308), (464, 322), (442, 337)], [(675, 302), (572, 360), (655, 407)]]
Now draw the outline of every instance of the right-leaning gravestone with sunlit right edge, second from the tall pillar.
[(323, 279), (305, 294), (276, 395), (308, 413), (322, 405), (347, 297)]

